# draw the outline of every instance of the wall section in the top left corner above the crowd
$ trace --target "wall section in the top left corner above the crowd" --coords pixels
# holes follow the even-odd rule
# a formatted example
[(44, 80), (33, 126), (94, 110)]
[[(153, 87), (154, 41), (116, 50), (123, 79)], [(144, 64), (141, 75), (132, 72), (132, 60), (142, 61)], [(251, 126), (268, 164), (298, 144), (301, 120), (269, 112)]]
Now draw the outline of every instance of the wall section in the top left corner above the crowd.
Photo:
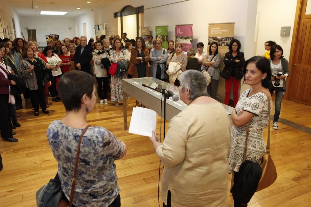
[[(5, 26), (7, 28), (7, 25), (11, 27), (11, 39), (15, 39), (14, 36), (14, 29), (13, 29), (13, 22), (12, 18), (15, 21), (15, 31), (16, 31), (16, 37), (22, 37), (21, 36), (21, 23), (20, 23), (20, 16), (13, 10), (13, 8), (5, 1), (1, 1), (0, 4), (1, 10), (4, 12), (4, 21), (5, 21)], [(2, 31), (1, 31), (2, 34)]]

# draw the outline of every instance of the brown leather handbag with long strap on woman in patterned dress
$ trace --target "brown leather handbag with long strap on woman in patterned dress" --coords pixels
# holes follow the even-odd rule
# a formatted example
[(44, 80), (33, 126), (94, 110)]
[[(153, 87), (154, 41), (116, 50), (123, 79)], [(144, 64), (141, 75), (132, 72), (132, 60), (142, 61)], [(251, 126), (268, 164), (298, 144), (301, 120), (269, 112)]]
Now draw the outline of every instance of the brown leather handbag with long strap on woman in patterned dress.
[[(270, 111), (271, 111), (270, 97), (267, 95), (267, 93), (265, 94), (268, 97), (269, 116), (270, 116)], [(262, 168), (262, 175), (261, 175), (256, 192), (266, 187), (269, 187), (270, 185), (272, 185), (272, 183), (277, 178), (276, 167), (270, 155), (270, 117), (268, 121), (268, 140), (267, 140), (266, 148), (267, 148), (267, 151), (260, 156), (260, 160), (259, 160), (259, 165)]]

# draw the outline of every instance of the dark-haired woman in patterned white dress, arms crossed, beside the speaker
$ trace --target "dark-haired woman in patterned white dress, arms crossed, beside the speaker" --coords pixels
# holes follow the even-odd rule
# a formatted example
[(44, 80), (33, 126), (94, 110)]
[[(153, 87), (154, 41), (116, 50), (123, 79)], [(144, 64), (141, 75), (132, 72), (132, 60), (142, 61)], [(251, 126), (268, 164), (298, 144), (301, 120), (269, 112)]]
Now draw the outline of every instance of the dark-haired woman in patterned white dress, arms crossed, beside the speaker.
[[(250, 121), (246, 160), (259, 162), (259, 157), (266, 151), (263, 129), (269, 120), (268, 98), (272, 107), (271, 70), (269, 61), (262, 56), (254, 56), (245, 62), (244, 83), (252, 88), (245, 90), (235, 109), (231, 113), (230, 153), (228, 155), (229, 173), (234, 171), (234, 182), (239, 177), (239, 168), (243, 163), (246, 128)], [(265, 92), (266, 94), (264, 94)], [(247, 203), (234, 198), (234, 206), (247, 206)]]

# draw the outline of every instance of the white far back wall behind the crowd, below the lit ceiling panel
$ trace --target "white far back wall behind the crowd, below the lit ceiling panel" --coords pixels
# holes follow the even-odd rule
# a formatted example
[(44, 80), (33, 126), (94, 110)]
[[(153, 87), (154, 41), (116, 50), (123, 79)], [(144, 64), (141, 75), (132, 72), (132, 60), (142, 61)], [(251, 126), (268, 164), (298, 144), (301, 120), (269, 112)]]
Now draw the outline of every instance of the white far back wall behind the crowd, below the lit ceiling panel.
[[(36, 29), (37, 42), (46, 41), (44, 35), (58, 34), (59, 39), (72, 39), (76, 36), (75, 19), (64, 16), (22, 17), (21, 29), (27, 40), (27, 29)], [(69, 29), (71, 28), (71, 29)]]

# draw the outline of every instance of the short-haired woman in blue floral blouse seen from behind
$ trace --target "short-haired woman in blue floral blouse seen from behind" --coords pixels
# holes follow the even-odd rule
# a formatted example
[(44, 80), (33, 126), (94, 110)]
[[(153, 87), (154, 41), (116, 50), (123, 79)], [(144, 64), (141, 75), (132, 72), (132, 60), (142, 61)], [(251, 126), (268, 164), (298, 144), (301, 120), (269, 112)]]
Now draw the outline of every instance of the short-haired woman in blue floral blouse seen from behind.
[[(95, 79), (82, 71), (69, 71), (59, 81), (58, 93), (66, 116), (53, 121), (47, 131), (49, 145), (58, 162), (58, 177), (69, 200), (78, 141), (88, 125), (86, 115), (94, 108)], [(83, 136), (73, 198), (75, 206), (120, 206), (120, 189), (114, 160), (126, 155), (124, 142), (103, 127), (89, 127)]]

